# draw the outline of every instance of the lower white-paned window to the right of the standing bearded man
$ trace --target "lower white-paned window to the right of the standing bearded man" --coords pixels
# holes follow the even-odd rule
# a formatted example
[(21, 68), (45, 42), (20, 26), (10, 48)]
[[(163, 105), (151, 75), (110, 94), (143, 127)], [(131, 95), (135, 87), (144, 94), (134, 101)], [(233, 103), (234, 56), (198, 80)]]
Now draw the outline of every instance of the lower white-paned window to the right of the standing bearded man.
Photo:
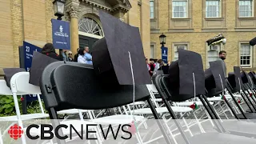
[(240, 47), (240, 66), (252, 66), (252, 47), (249, 44), (241, 44)]

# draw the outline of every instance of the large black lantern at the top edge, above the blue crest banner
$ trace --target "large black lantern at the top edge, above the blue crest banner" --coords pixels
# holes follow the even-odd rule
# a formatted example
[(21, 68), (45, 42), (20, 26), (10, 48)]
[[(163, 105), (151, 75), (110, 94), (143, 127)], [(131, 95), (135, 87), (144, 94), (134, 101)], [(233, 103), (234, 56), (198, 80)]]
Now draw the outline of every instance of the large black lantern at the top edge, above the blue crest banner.
[(65, 0), (54, 0), (54, 15), (57, 16), (58, 20), (62, 20), (64, 15)]

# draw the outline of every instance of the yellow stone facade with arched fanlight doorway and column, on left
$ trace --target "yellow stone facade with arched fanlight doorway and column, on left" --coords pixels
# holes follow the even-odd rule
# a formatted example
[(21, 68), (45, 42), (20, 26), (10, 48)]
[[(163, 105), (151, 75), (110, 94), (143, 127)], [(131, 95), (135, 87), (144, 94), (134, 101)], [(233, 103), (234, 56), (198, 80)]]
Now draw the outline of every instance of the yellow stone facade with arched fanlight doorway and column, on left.
[[(53, 0), (0, 0), (0, 75), (2, 68), (19, 67), (18, 46), (30, 42), (44, 46), (52, 42)], [(140, 28), (146, 56), (150, 56), (150, 2), (144, 0), (66, 0), (65, 16), (70, 22), (71, 51), (92, 46), (104, 37), (98, 10)], [(88, 26), (90, 25), (90, 26)]]

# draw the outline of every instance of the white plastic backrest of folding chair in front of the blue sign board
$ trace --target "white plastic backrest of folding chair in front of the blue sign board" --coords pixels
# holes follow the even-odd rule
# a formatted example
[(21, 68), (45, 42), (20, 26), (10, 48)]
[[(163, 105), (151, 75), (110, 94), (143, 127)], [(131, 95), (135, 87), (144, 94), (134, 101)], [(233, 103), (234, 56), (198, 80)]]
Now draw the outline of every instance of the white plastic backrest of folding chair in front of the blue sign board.
[(13, 93), (21, 94), (41, 94), (39, 86), (34, 86), (29, 83), (30, 73), (19, 72), (14, 74), (10, 79), (10, 88)]

